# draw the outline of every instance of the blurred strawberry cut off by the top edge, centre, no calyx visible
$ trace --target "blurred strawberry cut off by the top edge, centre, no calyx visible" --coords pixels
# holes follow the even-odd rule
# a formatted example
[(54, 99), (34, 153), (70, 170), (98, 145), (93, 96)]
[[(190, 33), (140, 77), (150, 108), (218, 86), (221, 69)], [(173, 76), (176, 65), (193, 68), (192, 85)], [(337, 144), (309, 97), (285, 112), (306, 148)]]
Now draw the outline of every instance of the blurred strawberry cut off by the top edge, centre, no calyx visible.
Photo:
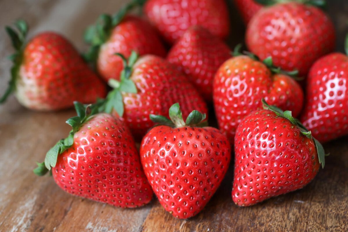
[(194, 25), (203, 26), (222, 39), (229, 34), (224, 0), (148, 0), (144, 13), (169, 43)]

